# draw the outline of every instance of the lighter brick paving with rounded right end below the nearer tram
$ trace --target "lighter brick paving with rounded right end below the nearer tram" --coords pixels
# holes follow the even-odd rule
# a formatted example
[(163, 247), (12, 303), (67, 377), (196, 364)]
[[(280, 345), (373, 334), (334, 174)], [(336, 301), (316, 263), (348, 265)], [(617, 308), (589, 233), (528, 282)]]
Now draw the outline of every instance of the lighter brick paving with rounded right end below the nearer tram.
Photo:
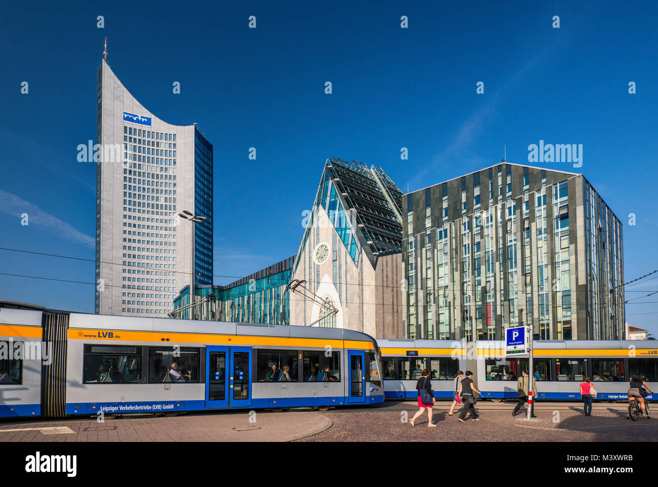
[[(255, 419), (250, 423), (249, 419)], [(62, 422), (0, 422), (0, 442), (288, 442), (331, 428), (315, 411), (249, 411), (178, 417), (124, 417)]]

